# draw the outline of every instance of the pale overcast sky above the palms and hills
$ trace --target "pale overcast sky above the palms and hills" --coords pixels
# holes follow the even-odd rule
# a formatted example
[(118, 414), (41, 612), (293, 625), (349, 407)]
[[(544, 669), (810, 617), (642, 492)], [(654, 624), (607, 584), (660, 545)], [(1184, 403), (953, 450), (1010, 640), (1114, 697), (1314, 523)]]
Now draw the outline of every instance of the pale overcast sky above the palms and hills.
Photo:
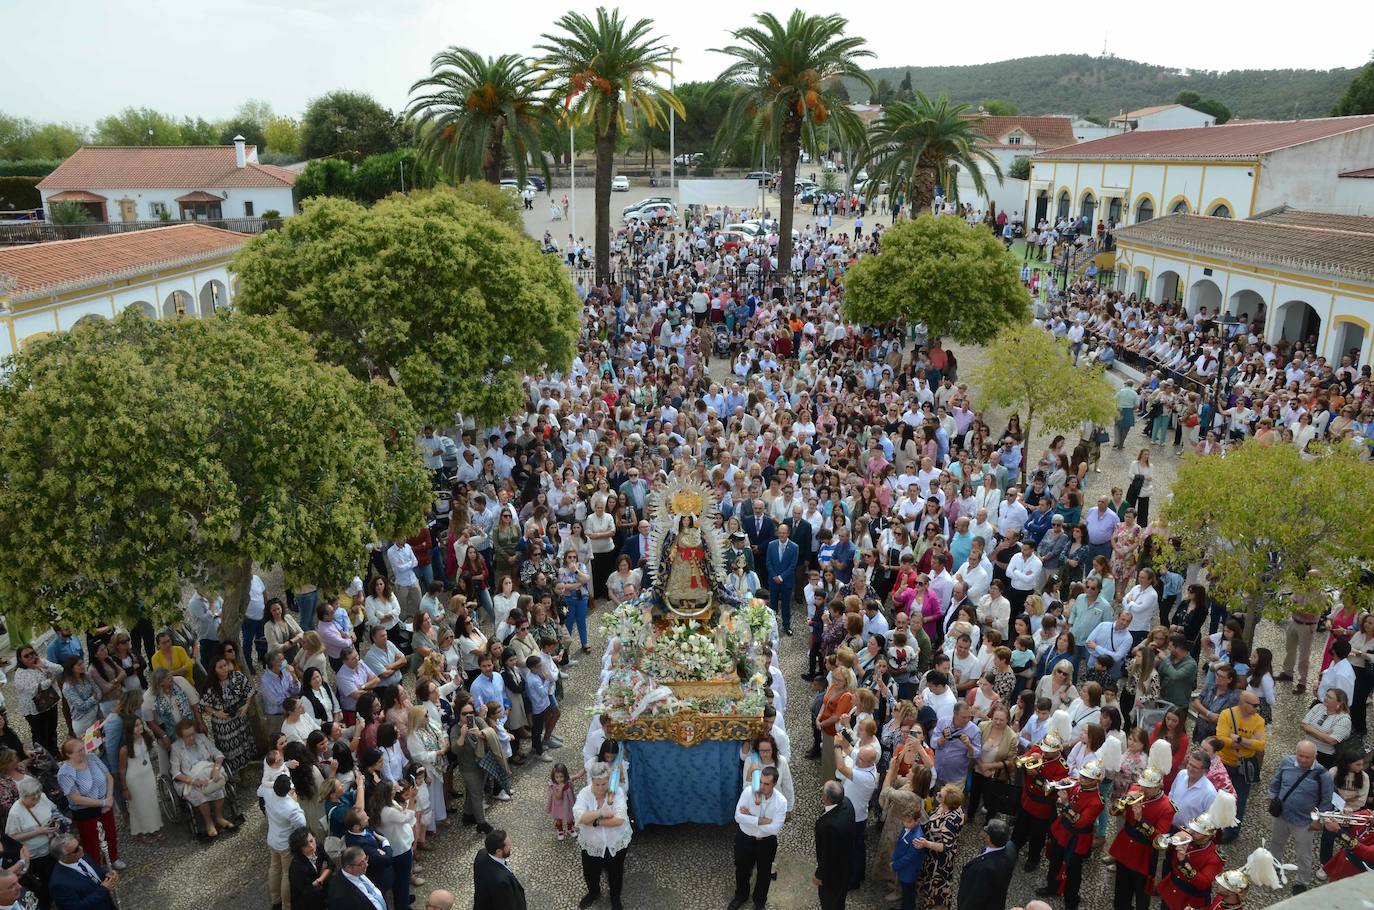
[[(801, 5), (846, 14), (851, 32), (877, 55), (874, 66), (1099, 54), (1103, 40), (1116, 56), (1216, 70), (1360, 66), (1374, 49), (1370, 29), (1355, 27), (1371, 21), (1367, 0), (1307, 0), (1300, 11), (1274, 0), (993, 0), (926, 7), (923, 15), (892, 0)], [(691, 0), (622, 8), (653, 12), (658, 33), (680, 48), (682, 81), (720, 71), (724, 58), (708, 48), (728, 43), (727, 29), (747, 23), (747, 10), (780, 15), (786, 7)], [(567, 10), (566, 0), (0, 0), (0, 34), (10, 37), (0, 110), (84, 125), (126, 106), (213, 120), (261, 98), (298, 115), (306, 100), (335, 88), (400, 109), (442, 47), (529, 54)]]

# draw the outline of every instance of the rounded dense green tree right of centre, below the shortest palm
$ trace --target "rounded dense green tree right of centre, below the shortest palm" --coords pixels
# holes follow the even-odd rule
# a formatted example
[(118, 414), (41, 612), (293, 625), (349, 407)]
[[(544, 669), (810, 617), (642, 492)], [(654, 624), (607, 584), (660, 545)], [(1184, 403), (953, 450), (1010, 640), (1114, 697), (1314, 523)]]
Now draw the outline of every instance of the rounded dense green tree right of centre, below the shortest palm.
[(845, 319), (881, 326), (923, 322), (932, 337), (987, 344), (1030, 319), (1015, 260), (988, 231), (932, 214), (882, 232), (877, 256), (845, 275)]

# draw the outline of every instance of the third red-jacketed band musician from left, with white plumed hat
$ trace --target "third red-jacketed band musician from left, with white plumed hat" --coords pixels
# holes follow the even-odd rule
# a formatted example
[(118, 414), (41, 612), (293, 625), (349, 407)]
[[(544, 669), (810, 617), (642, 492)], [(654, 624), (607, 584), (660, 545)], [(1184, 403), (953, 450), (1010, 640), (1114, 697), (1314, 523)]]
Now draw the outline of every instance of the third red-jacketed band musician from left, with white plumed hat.
[(1113, 815), (1124, 815), (1107, 851), (1116, 861), (1116, 885), (1112, 898), (1114, 910), (1147, 910), (1154, 888), (1154, 869), (1158, 859), (1154, 839), (1168, 834), (1178, 808), (1164, 792), (1164, 775), (1169, 773), (1173, 753), (1165, 740), (1156, 740), (1150, 757), (1135, 786), (1125, 799), (1112, 807)]

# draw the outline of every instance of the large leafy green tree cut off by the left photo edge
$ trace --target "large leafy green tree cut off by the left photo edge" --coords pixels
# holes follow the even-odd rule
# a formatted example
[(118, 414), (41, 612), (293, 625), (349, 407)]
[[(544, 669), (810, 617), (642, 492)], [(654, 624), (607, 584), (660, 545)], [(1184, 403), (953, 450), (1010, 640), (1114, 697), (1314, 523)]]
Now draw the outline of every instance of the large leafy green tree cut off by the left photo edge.
[(172, 621), (192, 581), (227, 588), (232, 634), (254, 566), (339, 584), (429, 500), (404, 396), (317, 363), (283, 320), (131, 312), (11, 366), (0, 598), (27, 624), (128, 621), (135, 603)]

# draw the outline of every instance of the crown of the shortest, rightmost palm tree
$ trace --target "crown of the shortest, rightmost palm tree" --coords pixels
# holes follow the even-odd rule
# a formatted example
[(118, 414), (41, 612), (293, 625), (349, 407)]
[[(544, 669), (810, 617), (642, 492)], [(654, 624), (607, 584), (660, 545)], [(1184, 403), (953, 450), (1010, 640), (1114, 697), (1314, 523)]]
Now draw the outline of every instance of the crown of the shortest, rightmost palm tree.
[[(932, 102), (922, 92), (910, 102), (893, 102), (883, 109), (868, 136), (864, 168), (868, 186), (877, 188), (888, 183), (892, 198), (905, 192), (911, 213), (929, 212), (936, 198), (936, 183), (948, 184), (958, 198), (954, 165), (969, 172), (978, 195), (987, 195), (982, 168), (987, 166), (1002, 183), (1002, 168), (996, 157), (980, 146), (987, 136), (978, 121), (963, 114), (969, 104), (951, 104), (944, 95)], [(874, 192), (868, 192), (871, 198)]]

